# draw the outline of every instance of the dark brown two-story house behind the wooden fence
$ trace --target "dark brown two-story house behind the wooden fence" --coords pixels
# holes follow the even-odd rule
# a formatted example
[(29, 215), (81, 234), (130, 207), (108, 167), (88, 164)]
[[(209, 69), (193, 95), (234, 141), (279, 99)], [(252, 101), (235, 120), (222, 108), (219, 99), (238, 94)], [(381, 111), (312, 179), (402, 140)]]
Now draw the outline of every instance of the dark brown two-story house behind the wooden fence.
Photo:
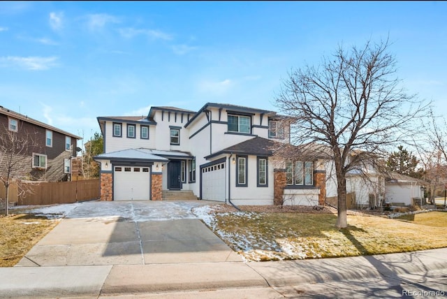
[[(15, 147), (11, 157), (21, 162), (20, 167), (13, 169), (13, 176), (47, 182), (70, 180), (71, 158), (76, 156), (79, 136), (2, 106), (0, 134), (1, 145), (6, 151)], [(6, 152), (0, 154), (0, 175), (4, 176), (13, 163), (8, 161)]]

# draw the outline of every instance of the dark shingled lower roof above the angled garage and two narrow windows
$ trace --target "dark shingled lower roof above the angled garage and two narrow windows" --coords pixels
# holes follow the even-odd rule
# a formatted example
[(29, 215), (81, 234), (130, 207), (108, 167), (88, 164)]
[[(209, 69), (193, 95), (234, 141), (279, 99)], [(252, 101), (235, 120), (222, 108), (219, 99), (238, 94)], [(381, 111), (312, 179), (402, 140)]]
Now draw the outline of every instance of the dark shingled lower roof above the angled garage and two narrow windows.
[(237, 143), (222, 149), (219, 152), (205, 156), (205, 159), (213, 158), (214, 156), (219, 156), (220, 154), (252, 154), (256, 156), (272, 156), (274, 145), (277, 141), (255, 137), (249, 140), (243, 141), (242, 143)]

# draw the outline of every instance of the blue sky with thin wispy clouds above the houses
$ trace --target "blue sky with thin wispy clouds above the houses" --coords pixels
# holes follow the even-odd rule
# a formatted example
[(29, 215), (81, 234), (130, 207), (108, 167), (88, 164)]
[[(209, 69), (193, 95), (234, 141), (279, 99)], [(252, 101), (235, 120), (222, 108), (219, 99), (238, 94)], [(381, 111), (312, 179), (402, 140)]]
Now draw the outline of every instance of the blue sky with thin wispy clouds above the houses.
[(388, 37), (409, 93), (446, 111), (445, 1), (1, 1), (0, 105), (84, 141), (152, 105), (277, 110), (291, 68)]

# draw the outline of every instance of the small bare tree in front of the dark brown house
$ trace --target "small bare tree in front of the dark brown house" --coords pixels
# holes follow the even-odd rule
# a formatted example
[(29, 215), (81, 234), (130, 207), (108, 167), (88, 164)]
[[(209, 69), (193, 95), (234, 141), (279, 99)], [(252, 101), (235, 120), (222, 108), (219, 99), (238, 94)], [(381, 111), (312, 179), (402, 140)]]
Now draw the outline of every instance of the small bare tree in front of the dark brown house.
[(13, 180), (16, 181), (18, 196), (30, 191), (26, 185), (20, 184), (20, 180), (31, 179), (29, 173), (32, 163), (31, 152), (38, 147), (36, 133), (31, 135), (31, 133), (19, 131), (22, 133), (10, 131), (4, 125), (0, 131), (0, 182), (6, 189), (6, 215), (9, 209), (10, 183)]

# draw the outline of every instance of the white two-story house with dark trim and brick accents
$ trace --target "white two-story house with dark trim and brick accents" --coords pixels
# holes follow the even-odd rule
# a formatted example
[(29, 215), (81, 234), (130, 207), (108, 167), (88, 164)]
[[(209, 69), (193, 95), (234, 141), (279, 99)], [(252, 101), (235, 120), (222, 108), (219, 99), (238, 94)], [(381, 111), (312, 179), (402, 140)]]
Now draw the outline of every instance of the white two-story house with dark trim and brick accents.
[(290, 143), (288, 119), (276, 112), (206, 103), (197, 112), (152, 107), (147, 117), (98, 123), (101, 200), (161, 200), (163, 191), (189, 190), (235, 205), (324, 202), (323, 163), (274, 155)]

